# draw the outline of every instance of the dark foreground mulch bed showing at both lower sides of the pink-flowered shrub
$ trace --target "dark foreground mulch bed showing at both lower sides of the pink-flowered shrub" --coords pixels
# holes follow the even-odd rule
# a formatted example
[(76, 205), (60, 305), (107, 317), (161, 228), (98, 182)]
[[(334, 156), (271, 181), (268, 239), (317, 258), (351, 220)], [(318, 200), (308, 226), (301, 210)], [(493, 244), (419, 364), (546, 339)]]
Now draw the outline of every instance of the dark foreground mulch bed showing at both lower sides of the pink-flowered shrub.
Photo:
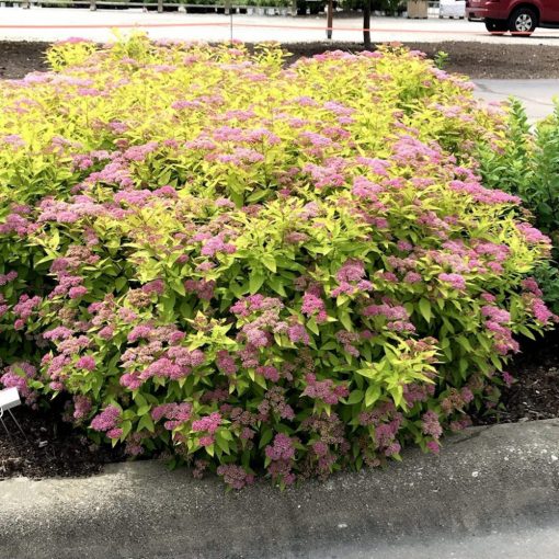
[[(537, 342), (525, 340), (523, 352), (509, 370), (516, 381), (503, 389), (504, 409), (474, 417), (475, 424), (559, 417), (559, 332)], [(27, 440), (7, 418), (12, 437), (0, 427), (0, 480), (12, 476), (91, 476), (105, 464), (126, 459), (122, 450), (93, 445), (85, 435), (72, 431), (69, 423), (60, 421), (59, 413), (35, 412), (25, 406), (13, 411)]]

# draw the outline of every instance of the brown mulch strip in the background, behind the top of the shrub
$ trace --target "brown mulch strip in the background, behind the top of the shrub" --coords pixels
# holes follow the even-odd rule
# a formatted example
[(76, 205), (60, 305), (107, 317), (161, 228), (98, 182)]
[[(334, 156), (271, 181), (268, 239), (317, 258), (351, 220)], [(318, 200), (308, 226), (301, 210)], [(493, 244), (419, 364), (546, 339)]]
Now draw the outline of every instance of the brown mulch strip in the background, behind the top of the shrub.
[[(373, 37), (374, 41), (374, 37)], [(448, 54), (445, 69), (466, 73), (472, 79), (559, 78), (559, 47), (537, 44), (510, 45), (466, 42), (406, 43), (433, 58), (440, 50)], [(22, 78), (30, 71), (45, 70), (44, 53), (48, 43), (0, 42), (0, 78)], [(358, 43), (295, 43), (289, 61), (324, 50), (363, 50)]]

